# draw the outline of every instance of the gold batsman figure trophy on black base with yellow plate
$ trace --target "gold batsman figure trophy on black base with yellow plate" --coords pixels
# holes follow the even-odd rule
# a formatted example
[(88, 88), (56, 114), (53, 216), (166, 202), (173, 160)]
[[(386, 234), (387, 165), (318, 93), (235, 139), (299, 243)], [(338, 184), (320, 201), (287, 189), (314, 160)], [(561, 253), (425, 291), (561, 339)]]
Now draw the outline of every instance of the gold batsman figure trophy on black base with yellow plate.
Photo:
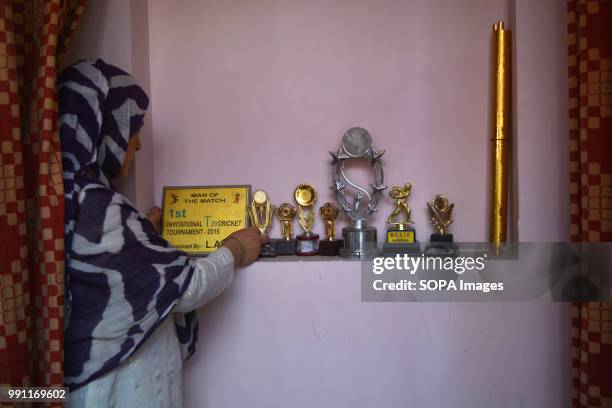
[(421, 253), (421, 245), (416, 240), (416, 232), (411, 227), (414, 224), (411, 210), (408, 206), (408, 197), (412, 191), (412, 184), (406, 183), (403, 187), (393, 187), (389, 191), (389, 197), (395, 200), (395, 208), (387, 224), (391, 225), (387, 229), (387, 242), (383, 245), (384, 255), (409, 254), (418, 255)]

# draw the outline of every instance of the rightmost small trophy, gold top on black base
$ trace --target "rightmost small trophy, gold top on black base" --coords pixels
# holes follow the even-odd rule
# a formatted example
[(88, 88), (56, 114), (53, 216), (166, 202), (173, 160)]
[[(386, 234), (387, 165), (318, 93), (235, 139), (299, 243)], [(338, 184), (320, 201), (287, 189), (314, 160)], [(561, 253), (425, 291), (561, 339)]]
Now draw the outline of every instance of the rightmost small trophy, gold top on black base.
[(427, 203), (431, 223), (435, 233), (431, 234), (431, 243), (427, 245), (427, 255), (457, 255), (458, 248), (453, 243), (453, 234), (448, 233), (448, 227), (453, 223), (453, 209), (455, 204), (450, 203), (446, 196), (436, 195)]

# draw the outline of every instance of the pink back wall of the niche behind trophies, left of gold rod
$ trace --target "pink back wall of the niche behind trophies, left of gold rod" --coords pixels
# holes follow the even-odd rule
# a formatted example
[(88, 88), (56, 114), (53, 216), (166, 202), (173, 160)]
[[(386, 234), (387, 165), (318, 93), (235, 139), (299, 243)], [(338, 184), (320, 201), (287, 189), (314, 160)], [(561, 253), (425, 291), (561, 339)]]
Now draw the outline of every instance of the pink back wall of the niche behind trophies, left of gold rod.
[[(504, 10), (499, 0), (152, 1), (157, 197), (164, 185), (249, 183), (280, 204), (310, 182), (322, 204), (328, 152), (360, 125), (387, 150), (387, 184), (413, 183), (421, 239), (436, 193), (456, 203), (457, 238), (482, 239), (490, 23)], [(390, 205), (373, 219), (381, 234)]]

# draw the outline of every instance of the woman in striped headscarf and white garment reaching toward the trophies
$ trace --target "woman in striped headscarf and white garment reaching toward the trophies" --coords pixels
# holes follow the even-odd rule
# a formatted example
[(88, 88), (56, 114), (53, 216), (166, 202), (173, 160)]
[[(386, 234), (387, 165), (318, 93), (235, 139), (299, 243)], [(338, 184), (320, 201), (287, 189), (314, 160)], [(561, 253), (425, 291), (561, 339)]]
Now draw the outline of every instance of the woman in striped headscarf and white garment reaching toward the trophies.
[[(65, 382), (71, 405), (180, 407), (196, 309), (253, 262), (267, 237), (238, 231), (207, 258), (169, 246), (111, 181), (128, 173), (148, 98), (102, 60), (58, 86), (65, 185)], [(159, 221), (159, 215), (156, 215)]]

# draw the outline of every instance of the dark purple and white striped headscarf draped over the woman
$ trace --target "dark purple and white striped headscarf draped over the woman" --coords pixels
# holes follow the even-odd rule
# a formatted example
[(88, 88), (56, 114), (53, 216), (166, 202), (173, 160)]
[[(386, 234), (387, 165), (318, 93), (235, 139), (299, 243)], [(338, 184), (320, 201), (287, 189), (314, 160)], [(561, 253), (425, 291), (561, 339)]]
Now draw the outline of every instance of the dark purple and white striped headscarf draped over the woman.
[[(65, 188), (65, 382), (76, 389), (126, 361), (169, 315), (194, 268), (114, 191), (149, 100), (126, 72), (98, 59), (59, 77)], [(174, 314), (184, 358), (197, 315)]]

